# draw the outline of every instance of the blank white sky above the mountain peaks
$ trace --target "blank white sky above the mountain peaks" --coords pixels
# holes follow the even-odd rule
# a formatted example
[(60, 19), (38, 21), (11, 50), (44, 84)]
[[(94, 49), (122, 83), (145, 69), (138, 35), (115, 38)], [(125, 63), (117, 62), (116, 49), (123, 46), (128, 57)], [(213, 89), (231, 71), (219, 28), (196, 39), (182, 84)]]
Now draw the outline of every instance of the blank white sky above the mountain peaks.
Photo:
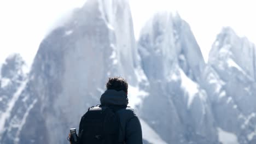
[[(0, 63), (13, 52), (32, 64), (40, 41), (56, 21), (86, 0), (0, 0)], [(211, 45), (223, 26), (256, 43), (256, 4), (238, 0), (130, 0), (135, 37), (156, 11), (178, 11), (187, 21), (207, 61)], [(61, 18), (62, 17), (62, 18)]]

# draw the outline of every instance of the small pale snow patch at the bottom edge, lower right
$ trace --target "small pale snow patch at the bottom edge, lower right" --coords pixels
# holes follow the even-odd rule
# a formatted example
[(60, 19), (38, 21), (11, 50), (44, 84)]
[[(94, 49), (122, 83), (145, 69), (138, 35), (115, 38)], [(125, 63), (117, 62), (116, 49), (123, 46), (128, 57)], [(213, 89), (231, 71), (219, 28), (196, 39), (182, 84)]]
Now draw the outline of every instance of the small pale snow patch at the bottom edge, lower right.
[(217, 128), (217, 130), (218, 130), (219, 142), (222, 142), (223, 144), (239, 144), (237, 140), (237, 136), (234, 133), (224, 131), (219, 127)]

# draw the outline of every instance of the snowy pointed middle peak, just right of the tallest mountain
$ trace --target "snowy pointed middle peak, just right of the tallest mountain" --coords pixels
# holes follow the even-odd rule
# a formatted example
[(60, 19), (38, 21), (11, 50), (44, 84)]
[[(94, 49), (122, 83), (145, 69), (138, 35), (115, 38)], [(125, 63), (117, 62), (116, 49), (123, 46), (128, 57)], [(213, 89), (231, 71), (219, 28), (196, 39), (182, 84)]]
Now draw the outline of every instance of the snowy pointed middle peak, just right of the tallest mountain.
[(138, 51), (150, 83), (141, 117), (167, 143), (216, 143), (210, 101), (198, 83), (205, 62), (188, 23), (156, 14), (141, 31)]

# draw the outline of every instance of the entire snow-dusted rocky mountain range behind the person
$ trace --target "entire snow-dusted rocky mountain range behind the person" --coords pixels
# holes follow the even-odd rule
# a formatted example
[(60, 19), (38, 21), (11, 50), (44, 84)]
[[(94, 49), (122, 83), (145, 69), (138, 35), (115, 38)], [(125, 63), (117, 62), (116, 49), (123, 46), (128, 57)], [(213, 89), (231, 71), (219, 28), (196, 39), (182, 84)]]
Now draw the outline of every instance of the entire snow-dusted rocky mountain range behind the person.
[(255, 143), (255, 46), (224, 28), (203, 61), (187, 22), (158, 13), (135, 41), (129, 2), (88, 0), (0, 76), (0, 144), (65, 143), (100, 104), (109, 76), (129, 82), (143, 143)]

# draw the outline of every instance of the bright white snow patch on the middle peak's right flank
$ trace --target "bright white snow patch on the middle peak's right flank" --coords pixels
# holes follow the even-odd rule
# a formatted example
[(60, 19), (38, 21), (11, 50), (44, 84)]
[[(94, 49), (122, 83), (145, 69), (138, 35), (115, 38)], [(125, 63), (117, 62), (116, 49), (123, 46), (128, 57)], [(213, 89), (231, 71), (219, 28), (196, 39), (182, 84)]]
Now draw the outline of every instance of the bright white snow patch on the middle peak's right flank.
[(181, 87), (185, 92), (188, 93), (188, 108), (194, 100), (196, 93), (199, 92), (198, 85), (188, 78), (187, 75), (184, 74), (183, 70), (179, 69), (179, 73), (181, 74)]

